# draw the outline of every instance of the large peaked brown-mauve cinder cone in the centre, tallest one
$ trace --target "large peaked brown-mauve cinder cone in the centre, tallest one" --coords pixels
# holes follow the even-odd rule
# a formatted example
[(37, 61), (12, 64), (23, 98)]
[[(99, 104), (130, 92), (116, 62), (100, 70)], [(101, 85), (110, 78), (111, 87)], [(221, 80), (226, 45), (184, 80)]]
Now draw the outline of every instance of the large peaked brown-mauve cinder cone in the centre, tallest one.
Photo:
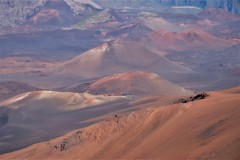
[(136, 70), (155, 72), (161, 75), (191, 71), (158, 54), (146, 47), (142, 41), (116, 40), (99, 45), (58, 65), (51, 69), (50, 73), (87, 79)]

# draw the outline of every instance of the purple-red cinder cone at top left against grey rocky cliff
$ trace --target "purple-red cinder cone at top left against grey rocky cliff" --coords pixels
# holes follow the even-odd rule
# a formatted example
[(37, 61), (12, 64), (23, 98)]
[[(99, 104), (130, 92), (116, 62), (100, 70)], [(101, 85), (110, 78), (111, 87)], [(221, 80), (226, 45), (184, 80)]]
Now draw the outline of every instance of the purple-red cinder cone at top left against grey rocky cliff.
[(81, 1), (48, 0), (36, 14), (27, 19), (27, 23), (37, 26), (66, 26), (101, 10), (94, 6)]

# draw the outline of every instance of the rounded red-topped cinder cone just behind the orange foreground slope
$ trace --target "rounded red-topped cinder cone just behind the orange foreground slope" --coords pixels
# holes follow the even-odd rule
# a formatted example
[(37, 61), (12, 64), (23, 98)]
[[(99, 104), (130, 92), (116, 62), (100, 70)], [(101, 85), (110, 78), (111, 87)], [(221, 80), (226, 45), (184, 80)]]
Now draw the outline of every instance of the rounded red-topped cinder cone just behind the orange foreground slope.
[(113, 95), (190, 95), (191, 91), (160, 78), (157, 74), (128, 72), (115, 74), (92, 83), (87, 91), (91, 94)]

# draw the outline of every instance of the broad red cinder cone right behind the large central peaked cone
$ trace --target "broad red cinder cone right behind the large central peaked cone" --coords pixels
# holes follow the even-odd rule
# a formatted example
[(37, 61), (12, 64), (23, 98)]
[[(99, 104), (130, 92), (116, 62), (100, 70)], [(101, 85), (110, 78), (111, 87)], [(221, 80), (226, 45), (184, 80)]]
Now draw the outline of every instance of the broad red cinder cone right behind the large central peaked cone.
[(232, 46), (232, 41), (214, 37), (207, 32), (191, 30), (183, 32), (155, 31), (150, 37), (161, 49), (174, 51), (219, 50)]

